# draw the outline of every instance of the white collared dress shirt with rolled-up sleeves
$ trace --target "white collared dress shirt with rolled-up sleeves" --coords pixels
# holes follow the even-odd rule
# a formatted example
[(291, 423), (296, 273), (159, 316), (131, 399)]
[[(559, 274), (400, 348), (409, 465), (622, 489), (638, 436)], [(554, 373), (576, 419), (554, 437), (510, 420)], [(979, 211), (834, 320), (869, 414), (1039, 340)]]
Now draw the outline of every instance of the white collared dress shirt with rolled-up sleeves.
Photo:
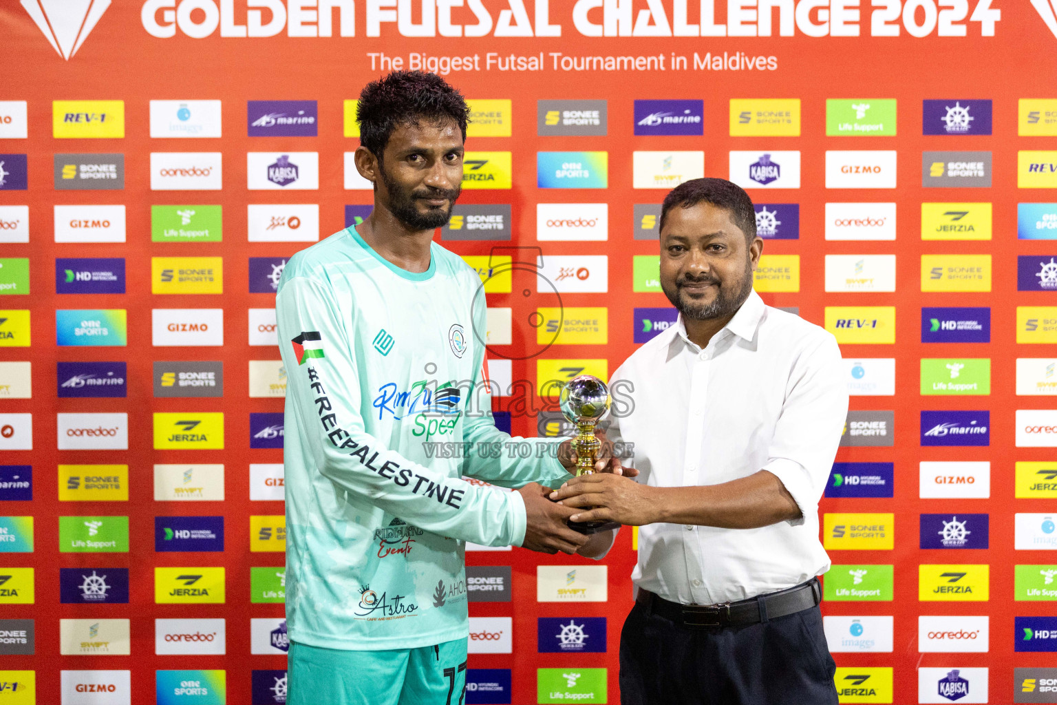
[(763, 469), (781, 480), (803, 515), (750, 530), (642, 526), (631, 575), (637, 588), (711, 605), (792, 588), (829, 570), (818, 500), (848, 412), (842, 369), (833, 335), (764, 304), (754, 291), (704, 350), (680, 316), (616, 370), (609, 435), (634, 444), (639, 483), (711, 485)]

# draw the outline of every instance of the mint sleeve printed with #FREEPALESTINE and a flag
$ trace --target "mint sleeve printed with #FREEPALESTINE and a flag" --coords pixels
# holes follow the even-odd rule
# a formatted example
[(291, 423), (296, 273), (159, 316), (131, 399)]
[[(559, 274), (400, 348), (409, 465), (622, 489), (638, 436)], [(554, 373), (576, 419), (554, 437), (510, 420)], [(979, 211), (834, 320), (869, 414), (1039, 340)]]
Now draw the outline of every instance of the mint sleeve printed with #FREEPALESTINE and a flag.
[(318, 472), (425, 531), (484, 545), (520, 545), (525, 512), (517, 493), (446, 477), (384, 447), (366, 430), (352, 341), (322, 282), (310, 276), (283, 280), (276, 318), (289, 371), (288, 415), (294, 414)]

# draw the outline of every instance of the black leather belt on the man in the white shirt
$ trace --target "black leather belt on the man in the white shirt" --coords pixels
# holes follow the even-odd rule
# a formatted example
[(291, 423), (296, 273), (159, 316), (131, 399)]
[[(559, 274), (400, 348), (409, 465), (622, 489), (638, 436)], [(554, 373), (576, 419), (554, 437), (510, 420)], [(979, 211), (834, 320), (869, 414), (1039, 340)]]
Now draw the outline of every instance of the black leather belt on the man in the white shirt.
[(659, 614), (687, 629), (755, 625), (809, 610), (821, 599), (822, 588), (818, 578), (812, 578), (787, 590), (720, 605), (681, 605), (657, 597), (642, 588), (635, 597), (635, 601), (646, 610), (647, 614)]

